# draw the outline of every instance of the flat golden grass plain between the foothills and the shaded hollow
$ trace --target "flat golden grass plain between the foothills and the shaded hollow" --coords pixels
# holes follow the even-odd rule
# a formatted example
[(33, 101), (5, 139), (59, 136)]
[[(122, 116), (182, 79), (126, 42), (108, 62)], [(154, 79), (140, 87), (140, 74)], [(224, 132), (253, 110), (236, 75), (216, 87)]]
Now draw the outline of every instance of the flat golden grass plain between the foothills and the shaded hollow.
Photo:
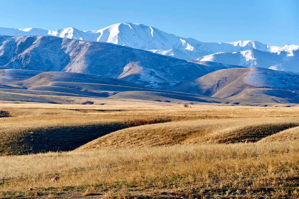
[[(123, 102), (125, 103), (125, 102)], [(170, 106), (166, 106), (170, 105)], [(90, 112), (77, 111), (79, 109)], [(183, 105), (161, 103), (135, 105), (60, 105), (60, 104), (0, 104), (0, 110), (12, 117), (1, 118), (1, 129), (20, 127), (41, 127), (56, 125), (75, 125), (97, 123), (98, 121), (125, 121), (148, 118), (170, 118), (174, 120), (193, 120), (201, 118), (265, 118), (299, 117), (299, 107), (248, 107)], [(92, 111), (94, 110), (94, 111)], [(96, 111), (97, 110), (97, 111)], [(106, 110), (106, 111), (105, 111)], [(115, 111), (113, 111), (115, 110)]]

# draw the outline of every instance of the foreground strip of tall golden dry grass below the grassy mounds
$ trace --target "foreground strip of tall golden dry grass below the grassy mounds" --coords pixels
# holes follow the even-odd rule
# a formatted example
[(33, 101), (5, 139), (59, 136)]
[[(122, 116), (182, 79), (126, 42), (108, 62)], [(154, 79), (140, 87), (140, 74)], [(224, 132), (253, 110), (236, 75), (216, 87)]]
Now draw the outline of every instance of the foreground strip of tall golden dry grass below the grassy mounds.
[[(180, 187), (182, 194), (213, 189), (256, 191), (297, 186), (297, 141), (251, 144), (175, 145), (101, 149), (0, 157), (2, 191), (30, 187), (108, 184), (141, 190)], [(22, 168), (22, 169), (21, 169)], [(51, 183), (52, 176), (60, 180)], [(190, 197), (196, 192), (190, 192)]]

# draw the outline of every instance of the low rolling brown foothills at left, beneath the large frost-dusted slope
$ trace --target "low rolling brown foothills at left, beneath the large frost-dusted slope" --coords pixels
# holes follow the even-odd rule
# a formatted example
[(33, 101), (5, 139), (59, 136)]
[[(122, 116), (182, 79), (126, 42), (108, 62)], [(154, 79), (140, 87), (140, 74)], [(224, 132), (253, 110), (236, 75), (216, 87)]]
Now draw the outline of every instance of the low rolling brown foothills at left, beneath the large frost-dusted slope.
[[(16, 71), (18, 72), (16, 74), (19, 74), (20, 71), (24, 70)], [(16, 78), (16, 80), (19, 79)], [(9, 85), (3, 84), (0, 87), (2, 99), (6, 101), (9, 101), (7, 96), (14, 96), (12, 101), (17, 101), (17, 97), (19, 97), (20, 101), (24, 101), (26, 95), (28, 95), (27, 101), (32, 102), (46, 102), (46, 100), (52, 101), (54, 99), (55, 103), (65, 101), (75, 104), (78, 102), (75, 102), (76, 100), (70, 97), (90, 98), (88, 99), (89, 103), (94, 103), (98, 101), (96, 98), (103, 97), (108, 97), (108, 99), (139, 99), (190, 104), (193, 104), (193, 102), (235, 103), (231, 100), (203, 95), (149, 89), (129, 81), (74, 72), (41, 72), (32, 78), (9, 83)], [(36, 97), (45, 98), (45, 100), (36, 101)]]

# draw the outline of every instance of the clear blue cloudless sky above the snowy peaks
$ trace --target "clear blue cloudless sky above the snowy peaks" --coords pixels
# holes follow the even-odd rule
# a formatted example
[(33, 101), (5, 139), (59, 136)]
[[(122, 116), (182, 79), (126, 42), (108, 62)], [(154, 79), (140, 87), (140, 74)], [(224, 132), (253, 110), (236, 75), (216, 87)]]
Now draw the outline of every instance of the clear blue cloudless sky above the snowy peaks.
[(58, 30), (142, 23), (204, 42), (299, 45), (299, 0), (0, 0), (0, 27)]

